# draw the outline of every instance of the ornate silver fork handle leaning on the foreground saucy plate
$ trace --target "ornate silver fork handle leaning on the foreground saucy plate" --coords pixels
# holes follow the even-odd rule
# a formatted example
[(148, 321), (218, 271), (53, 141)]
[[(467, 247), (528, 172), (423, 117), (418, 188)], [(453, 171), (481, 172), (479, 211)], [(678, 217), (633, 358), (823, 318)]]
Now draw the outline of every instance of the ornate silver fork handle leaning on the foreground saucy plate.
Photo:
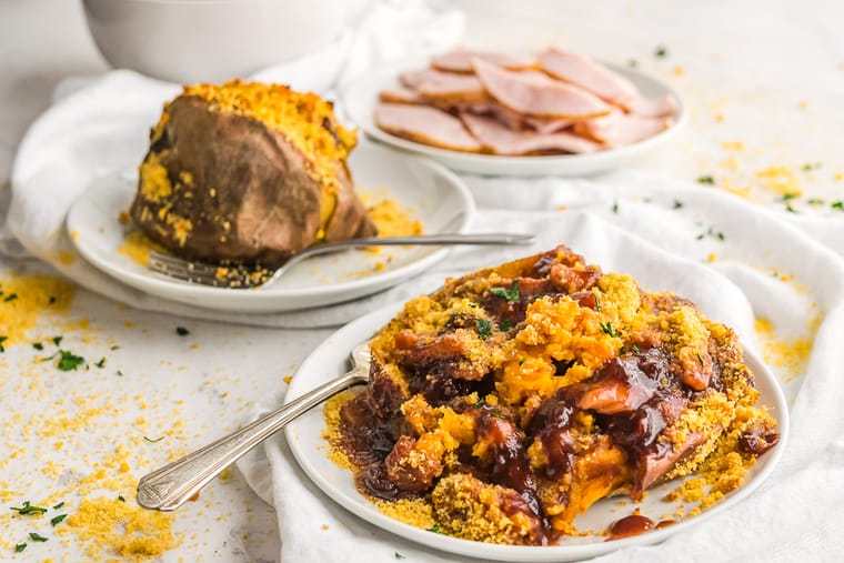
[(294, 399), (228, 436), (149, 473), (138, 482), (138, 504), (144, 509), (175, 510), (247, 452), (313, 406), (356, 383), (366, 370), (355, 368), (340, 378)]

